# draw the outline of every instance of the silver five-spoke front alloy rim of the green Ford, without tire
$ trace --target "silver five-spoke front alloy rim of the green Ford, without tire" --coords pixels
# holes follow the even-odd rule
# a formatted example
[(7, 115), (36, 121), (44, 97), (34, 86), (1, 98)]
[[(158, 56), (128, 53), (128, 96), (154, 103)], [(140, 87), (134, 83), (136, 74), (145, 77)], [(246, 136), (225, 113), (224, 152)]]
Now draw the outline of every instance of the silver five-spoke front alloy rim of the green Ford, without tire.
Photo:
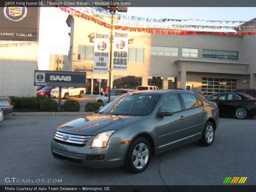
[(133, 149), (132, 163), (137, 169), (142, 169), (148, 162), (149, 151), (145, 143), (139, 143)]

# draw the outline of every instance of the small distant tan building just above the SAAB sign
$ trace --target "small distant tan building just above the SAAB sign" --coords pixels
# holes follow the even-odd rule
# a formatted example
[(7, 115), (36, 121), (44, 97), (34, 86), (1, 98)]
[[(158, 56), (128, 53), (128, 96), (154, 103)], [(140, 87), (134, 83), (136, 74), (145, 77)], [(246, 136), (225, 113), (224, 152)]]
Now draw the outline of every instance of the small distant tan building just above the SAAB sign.
[(50, 54), (50, 71), (64, 71), (68, 67), (68, 55), (53, 55)]

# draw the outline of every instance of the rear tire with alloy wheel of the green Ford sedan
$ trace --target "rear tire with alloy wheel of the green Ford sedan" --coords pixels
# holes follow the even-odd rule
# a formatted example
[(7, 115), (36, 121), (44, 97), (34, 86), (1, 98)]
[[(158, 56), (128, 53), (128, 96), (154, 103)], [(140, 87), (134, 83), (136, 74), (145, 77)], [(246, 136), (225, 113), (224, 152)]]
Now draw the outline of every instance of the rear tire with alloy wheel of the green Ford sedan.
[(210, 146), (212, 145), (215, 137), (215, 129), (212, 122), (208, 121), (203, 130), (201, 139), (199, 140), (200, 145)]

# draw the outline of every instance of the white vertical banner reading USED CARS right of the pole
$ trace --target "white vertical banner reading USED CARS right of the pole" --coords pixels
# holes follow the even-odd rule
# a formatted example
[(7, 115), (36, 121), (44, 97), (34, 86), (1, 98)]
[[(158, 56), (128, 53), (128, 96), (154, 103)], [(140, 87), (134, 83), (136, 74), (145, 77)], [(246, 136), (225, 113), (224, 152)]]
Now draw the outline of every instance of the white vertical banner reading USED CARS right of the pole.
[(114, 70), (127, 70), (128, 61), (128, 33), (124, 31), (114, 32)]

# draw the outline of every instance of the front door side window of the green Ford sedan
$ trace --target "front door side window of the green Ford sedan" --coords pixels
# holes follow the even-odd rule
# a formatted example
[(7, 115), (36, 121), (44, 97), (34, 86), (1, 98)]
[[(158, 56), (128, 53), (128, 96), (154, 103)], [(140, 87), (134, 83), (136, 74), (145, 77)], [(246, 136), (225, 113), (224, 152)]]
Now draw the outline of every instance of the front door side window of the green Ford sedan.
[(171, 94), (164, 98), (161, 103), (161, 110), (171, 109), (172, 112), (181, 110), (180, 98), (177, 94)]

